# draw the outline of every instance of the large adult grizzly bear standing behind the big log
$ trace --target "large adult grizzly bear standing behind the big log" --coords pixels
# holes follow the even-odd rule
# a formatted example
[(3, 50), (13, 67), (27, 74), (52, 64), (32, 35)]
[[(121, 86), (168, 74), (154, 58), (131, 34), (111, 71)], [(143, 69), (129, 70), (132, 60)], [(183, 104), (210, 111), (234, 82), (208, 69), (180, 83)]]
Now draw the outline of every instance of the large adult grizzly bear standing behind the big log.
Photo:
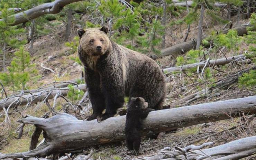
[[(165, 80), (157, 63), (111, 41), (108, 27), (78, 29), (78, 54), (93, 113), (87, 120), (106, 120), (124, 104), (124, 97), (143, 97), (148, 107), (162, 109)], [(106, 112), (102, 114), (102, 111)]]

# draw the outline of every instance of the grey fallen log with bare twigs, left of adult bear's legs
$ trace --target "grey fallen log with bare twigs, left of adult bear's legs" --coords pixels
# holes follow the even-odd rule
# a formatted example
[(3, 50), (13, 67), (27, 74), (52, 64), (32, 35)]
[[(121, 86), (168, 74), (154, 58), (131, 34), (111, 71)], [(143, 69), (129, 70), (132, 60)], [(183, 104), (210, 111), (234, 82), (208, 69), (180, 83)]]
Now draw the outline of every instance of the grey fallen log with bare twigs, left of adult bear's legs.
[[(86, 91), (86, 85), (80, 84), (77, 86), (74, 86), (75, 89), (80, 89), (83, 91)], [(35, 91), (31, 94), (26, 95), (18, 95), (18, 96), (12, 96), (5, 98), (0, 101), (0, 110), (5, 108), (13, 108), (21, 105), (31, 105), (37, 102), (46, 101), (49, 99), (53, 99), (56, 94), (60, 94), (62, 96), (66, 96), (68, 92), (68, 88), (52, 88), (49, 90), (39, 90)]]

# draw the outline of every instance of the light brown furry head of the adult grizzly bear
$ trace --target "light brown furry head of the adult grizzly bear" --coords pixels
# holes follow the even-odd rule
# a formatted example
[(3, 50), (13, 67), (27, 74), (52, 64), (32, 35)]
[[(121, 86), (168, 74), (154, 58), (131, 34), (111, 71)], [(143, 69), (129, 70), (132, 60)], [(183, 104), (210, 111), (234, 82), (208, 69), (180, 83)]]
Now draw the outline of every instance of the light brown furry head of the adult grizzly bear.
[(77, 29), (80, 37), (78, 46), (79, 54), (87, 54), (89, 56), (101, 56), (111, 49), (111, 43), (107, 36), (108, 27), (89, 28), (86, 30)]

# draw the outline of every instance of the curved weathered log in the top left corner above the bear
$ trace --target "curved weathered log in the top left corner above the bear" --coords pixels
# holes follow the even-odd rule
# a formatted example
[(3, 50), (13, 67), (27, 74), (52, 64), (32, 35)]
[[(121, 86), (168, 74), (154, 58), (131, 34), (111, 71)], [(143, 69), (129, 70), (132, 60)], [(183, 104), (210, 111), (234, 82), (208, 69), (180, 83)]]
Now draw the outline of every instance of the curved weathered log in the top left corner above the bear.
[[(35, 19), (37, 17), (43, 16), (45, 14), (56, 14), (59, 13), (64, 6), (70, 3), (79, 2), (82, 0), (55, 0), (54, 2), (44, 3), (24, 12), (11, 15), (15, 17), (15, 22), (12, 23), (12, 26), (18, 25), (29, 21), (30, 19)], [(3, 21), (3, 19), (0, 19)]]

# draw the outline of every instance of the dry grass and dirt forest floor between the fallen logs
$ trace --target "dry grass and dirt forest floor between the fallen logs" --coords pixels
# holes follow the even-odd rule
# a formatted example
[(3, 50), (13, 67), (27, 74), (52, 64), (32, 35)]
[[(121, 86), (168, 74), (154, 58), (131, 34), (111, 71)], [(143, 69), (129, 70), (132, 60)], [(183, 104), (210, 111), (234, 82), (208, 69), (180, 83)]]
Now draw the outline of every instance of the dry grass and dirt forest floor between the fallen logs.
[[(206, 18), (207, 19), (207, 18)], [(241, 23), (246, 23), (248, 20), (243, 20)], [(179, 26), (180, 28), (176, 28), (176, 31), (171, 28), (167, 29), (167, 42), (166, 47), (173, 46), (175, 44), (179, 44), (183, 41), (183, 37), (186, 32), (186, 25)], [(214, 28), (215, 30), (219, 30), (223, 27), (223, 25), (216, 23), (209, 23), (208, 26), (204, 24), (205, 33), (210, 32), (207, 30), (207, 27)], [(47, 84), (55, 81), (67, 81), (74, 78), (81, 77), (82, 67), (71, 60), (71, 57), (76, 57), (77, 53), (70, 54), (67, 50), (68, 47), (65, 47), (61, 37), (64, 35), (64, 28), (58, 29), (52, 32), (52, 34), (47, 36), (42, 36), (36, 39), (34, 44), (34, 52), (31, 55), (33, 63), (36, 63), (36, 67), (39, 70), (38, 73), (41, 75), (39, 78), (31, 81), (28, 86), (30, 88), (38, 88), (38, 86), (42, 86), (43, 84)], [(70, 39), (73, 39), (75, 36), (75, 28), (72, 31), (72, 36)], [(55, 33), (54, 33), (55, 32)], [(197, 28), (196, 25), (191, 26), (191, 32), (189, 35), (189, 39), (196, 38)], [(239, 55), (244, 53), (246, 49), (248, 49), (247, 44), (240, 44), (240, 50), (236, 51), (236, 53), (227, 52), (227, 56)], [(219, 57), (220, 58), (220, 57)], [(173, 66), (175, 64), (175, 57), (168, 56), (163, 59), (157, 59), (157, 62), (162, 66)], [(43, 69), (40, 65), (43, 64), (45, 67), (51, 68), (55, 71), (52, 73), (49, 70)], [(225, 70), (225, 73), (217, 72), (213, 75), (213, 81), (217, 81), (231, 73), (238, 72), (239, 70), (247, 67), (255, 66), (255, 64), (246, 64), (245, 62), (237, 64), (228, 64), (225, 66), (220, 66), (220, 70)], [(166, 104), (172, 103), (180, 98), (190, 94), (195, 90), (202, 90), (205, 87), (208, 87), (208, 83), (205, 82), (196, 82), (197, 74), (193, 74), (189, 79), (185, 75), (180, 76), (179, 78), (173, 78), (168, 82), (168, 95)], [(180, 83), (180, 81), (195, 81), (194, 85), (184, 85)], [(191, 82), (190, 82), (191, 83)], [(201, 97), (188, 105), (193, 104), (201, 104), (207, 102), (215, 102), (220, 100), (228, 100), (234, 98), (241, 98), (246, 96), (255, 95), (256, 88), (245, 88), (240, 87), (238, 83), (231, 85), (228, 88), (219, 89), (211, 93), (210, 95)], [(174, 93), (175, 92), (175, 93)], [(52, 102), (52, 101), (49, 101)], [(56, 109), (61, 108), (61, 104), (63, 100), (58, 100)], [(19, 110), (23, 113), (33, 115), (33, 116), (42, 116), (45, 112), (48, 112), (48, 107), (43, 104), (37, 106), (37, 104), (32, 105), (26, 110), (22, 110), (21, 107)], [(8, 129), (0, 128), (1, 130), (6, 130), (2, 132), (4, 134), (0, 134), (0, 152), (1, 153), (13, 153), (13, 152), (22, 152), (27, 151), (30, 143), (31, 134), (33, 133), (34, 126), (26, 125), (24, 128), (23, 137), (19, 140), (16, 139), (17, 134), (15, 132), (18, 127), (17, 120), (20, 119), (20, 114), (12, 111), (10, 112), (11, 125)], [(194, 125), (186, 128), (177, 129), (175, 131), (161, 133), (157, 139), (149, 139), (144, 138), (141, 143), (140, 155), (148, 156), (150, 154), (156, 154), (157, 150), (163, 149), (164, 147), (174, 146), (181, 141), (192, 142), (196, 139), (198, 141), (193, 144), (202, 144), (204, 142), (215, 142), (214, 146), (224, 144), (230, 141), (234, 141), (237, 139), (249, 137), (252, 135), (256, 135), (256, 118), (250, 121), (250, 117), (240, 115), (241, 117), (232, 118), (229, 120), (223, 120), (218, 122), (211, 122), (205, 124)], [(2, 120), (0, 119), (0, 122)], [(245, 123), (246, 121), (250, 121), (250, 123)], [(2, 126), (1, 126), (2, 127)], [(230, 129), (230, 130), (229, 130)], [(212, 133), (223, 131), (217, 135), (211, 136), (209, 138), (202, 138), (206, 135), (210, 135)], [(201, 139), (200, 139), (201, 138)], [(42, 140), (42, 135), (39, 141)], [(93, 150), (92, 158), (93, 159), (121, 159), (126, 156), (130, 158), (134, 158), (136, 156), (129, 154), (127, 152), (126, 143), (120, 142), (115, 144), (108, 145), (100, 145), (97, 147), (91, 147), (82, 151), (83, 154), (89, 154), (90, 151)], [(137, 156), (138, 157), (138, 156)], [(246, 160), (256, 159), (256, 155), (245, 158)]]

